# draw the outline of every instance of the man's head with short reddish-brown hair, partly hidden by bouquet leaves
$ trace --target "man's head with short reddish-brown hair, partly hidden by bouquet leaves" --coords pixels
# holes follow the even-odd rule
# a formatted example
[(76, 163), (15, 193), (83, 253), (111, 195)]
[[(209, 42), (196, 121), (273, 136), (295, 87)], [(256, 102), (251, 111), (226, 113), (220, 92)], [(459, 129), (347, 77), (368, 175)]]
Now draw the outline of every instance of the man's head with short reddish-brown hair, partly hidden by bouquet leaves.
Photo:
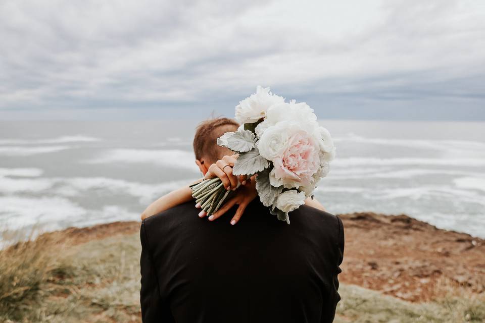
[(196, 129), (193, 137), (193, 152), (196, 154), (196, 164), (202, 173), (206, 174), (209, 166), (224, 155), (233, 152), (217, 144), (217, 138), (226, 132), (236, 131), (239, 124), (228, 118), (214, 118), (203, 121)]

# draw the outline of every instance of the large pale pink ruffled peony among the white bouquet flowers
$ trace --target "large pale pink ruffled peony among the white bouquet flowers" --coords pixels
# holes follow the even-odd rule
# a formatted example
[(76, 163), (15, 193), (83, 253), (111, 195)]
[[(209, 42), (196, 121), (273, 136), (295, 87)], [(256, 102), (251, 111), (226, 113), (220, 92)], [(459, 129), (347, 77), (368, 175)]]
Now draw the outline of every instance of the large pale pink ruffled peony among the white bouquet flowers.
[(283, 153), (273, 159), (274, 177), (285, 187), (308, 186), (320, 166), (318, 146), (311, 135), (299, 131), (289, 137)]

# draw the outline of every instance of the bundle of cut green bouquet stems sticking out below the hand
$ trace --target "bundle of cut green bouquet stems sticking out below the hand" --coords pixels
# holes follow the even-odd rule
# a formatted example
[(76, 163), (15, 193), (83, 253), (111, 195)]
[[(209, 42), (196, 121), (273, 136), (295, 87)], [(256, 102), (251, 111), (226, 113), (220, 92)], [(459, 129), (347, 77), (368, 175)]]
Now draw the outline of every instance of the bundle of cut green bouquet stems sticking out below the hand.
[(226, 190), (222, 181), (216, 177), (190, 185), (192, 197), (201, 204), (208, 216), (216, 212), (233, 191)]

